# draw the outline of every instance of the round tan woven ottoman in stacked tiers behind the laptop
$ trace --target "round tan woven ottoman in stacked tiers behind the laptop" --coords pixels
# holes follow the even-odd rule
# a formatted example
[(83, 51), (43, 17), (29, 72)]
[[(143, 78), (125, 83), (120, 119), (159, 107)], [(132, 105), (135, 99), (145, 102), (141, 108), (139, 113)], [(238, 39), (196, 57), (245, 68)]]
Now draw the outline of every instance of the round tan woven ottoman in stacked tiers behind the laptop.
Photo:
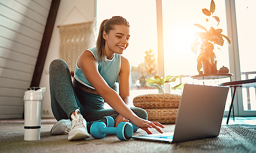
[(175, 124), (180, 97), (179, 94), (144, 94), (136, 96), (133, 103), (147, 111), (149, 121)]

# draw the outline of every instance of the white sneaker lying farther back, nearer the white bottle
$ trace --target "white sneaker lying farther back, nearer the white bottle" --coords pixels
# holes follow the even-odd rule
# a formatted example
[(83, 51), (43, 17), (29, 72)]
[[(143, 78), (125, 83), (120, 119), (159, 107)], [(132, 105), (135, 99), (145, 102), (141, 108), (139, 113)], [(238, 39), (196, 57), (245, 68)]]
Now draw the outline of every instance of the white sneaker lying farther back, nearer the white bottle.
[(59, 134), (68, 134), (71, 128), (70, 119), (61, 119), (55, 125), (53, 125), (51, 134), (59, 135)]

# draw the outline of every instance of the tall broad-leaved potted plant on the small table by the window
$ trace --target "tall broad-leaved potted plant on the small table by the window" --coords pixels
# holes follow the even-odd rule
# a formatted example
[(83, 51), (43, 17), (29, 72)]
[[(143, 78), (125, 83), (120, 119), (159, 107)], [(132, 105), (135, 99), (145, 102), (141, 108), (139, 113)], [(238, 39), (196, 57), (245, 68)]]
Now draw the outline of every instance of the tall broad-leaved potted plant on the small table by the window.
[[(214, 16), (213, 13), (215, 11), (215, 3), (212, 0), (210, 10), (204, 8), (203, 13), (207, 16), (207, 23), (209, 23), (209, 20), (215, 19), (217, 21), (217, 26), (220, 23), (220, 20), (218, 17)], [(197, 53), (197, 50), (200, 50), (200, 54), (197, 58), (197, 70), (200, 73), (200, 69), (203, 67), (203, 74), (206, 73), (216, 73), (216, 62), (215, 62), (215, 53), (213, 52), (213, 49), (215, 48), (215, 45), (223, 45), (224, 40), (223, 37), (229, 42), (230, 39), (225, 36), (224, 34), (221, 34), (222, 29), (215, 29), (212, 28), (212, 26), (209, 27), (209, 29), (205, 28), (204, 26), (201, 26), (199, 24), (194, 24), (198, 28), (203, 29), (205, 32), (199, 32), (195, 34), (195, 40), (191, 44), (191, 50)], [(201, 39), (198, 40), (198, 39)], [(219, 49), (219, 48), (218, 48)], [(212, 66), (215, 66), (212, 68)], [(208, 71), (205, 68), (209, 68)]]

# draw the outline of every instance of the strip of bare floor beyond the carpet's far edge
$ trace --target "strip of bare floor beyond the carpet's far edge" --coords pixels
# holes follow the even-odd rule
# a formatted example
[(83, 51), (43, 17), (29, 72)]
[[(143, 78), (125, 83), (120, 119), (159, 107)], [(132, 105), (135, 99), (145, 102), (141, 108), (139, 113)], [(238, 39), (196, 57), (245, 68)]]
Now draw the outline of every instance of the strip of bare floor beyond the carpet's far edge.
[[(55, 124), (56, 119), (42, 119), (41, 124), (53, 123)], [(1, 123), (24, 123), (24, 119), (10, 119), (10, 120), (0, 120)], [(223, 117), (221, 125), (227, 125), (227, 117)], [(228, 125), (256, 125), (256, 116), (255, 117), (235, 117), (235, 121), (231, 116), (228, 122)]]

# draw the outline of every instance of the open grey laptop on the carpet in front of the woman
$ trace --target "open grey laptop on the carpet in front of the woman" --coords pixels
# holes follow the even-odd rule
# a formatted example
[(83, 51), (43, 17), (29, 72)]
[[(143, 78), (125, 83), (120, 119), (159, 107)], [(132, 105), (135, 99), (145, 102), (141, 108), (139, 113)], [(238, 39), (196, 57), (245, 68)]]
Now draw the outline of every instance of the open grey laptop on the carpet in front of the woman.
[(175, 131), (132, 138), (177, 143), (216, 137), (221, 129), (228, 91), (228, 87), (185, 84)]

